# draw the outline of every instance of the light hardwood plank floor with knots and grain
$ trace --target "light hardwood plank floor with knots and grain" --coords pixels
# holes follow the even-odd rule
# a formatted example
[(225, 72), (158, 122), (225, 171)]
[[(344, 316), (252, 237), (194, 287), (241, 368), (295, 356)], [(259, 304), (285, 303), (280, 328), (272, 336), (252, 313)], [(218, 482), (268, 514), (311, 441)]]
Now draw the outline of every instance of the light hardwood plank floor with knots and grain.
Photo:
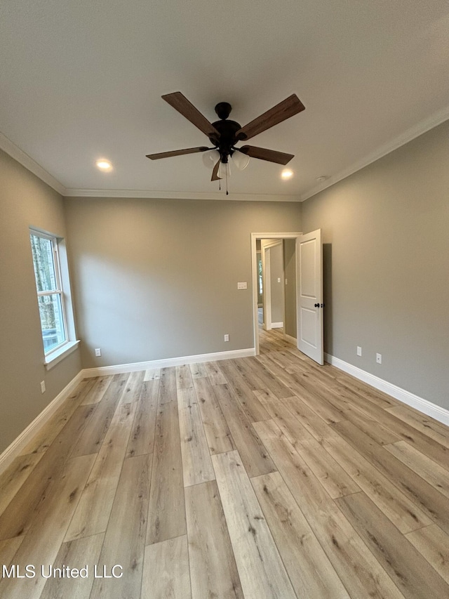
[(447, 599), (449, 429), (260, 348), (82, 381), (0, 477), (0, 597)]

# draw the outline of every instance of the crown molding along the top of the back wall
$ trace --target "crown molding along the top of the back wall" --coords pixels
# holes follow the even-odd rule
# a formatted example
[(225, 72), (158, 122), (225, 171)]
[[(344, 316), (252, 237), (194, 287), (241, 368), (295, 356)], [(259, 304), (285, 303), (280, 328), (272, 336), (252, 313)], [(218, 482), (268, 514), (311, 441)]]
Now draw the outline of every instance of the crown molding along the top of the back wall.
[(225, 192), (180, 192), (152, 190), (65, 190), (66, 197), (134, 197), (147, 199), (218, 199), (237, 202), (300, 202), (298, 195), (229, 193)]

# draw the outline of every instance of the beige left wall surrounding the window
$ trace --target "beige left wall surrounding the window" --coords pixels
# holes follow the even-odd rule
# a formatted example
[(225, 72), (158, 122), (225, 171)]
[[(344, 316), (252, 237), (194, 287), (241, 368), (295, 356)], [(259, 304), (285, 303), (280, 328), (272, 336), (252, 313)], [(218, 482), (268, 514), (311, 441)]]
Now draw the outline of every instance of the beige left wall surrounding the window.
[[(0, 453), (81, 370), (79, 351), (50, 371), (43, 345), (29, 226), (65, 237), (62, 198), (0, 151)], [(41, 394), (40, 382), (46, 393)]]

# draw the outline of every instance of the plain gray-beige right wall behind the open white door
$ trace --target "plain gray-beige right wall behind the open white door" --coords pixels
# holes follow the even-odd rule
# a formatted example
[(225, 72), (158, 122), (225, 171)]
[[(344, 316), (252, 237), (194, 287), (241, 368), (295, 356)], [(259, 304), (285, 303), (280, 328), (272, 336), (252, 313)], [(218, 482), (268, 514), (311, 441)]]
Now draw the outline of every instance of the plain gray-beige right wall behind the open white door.
[(326, 352), (445, 408), (448, 140), (446, 121), (302, 204), (323, 230)]

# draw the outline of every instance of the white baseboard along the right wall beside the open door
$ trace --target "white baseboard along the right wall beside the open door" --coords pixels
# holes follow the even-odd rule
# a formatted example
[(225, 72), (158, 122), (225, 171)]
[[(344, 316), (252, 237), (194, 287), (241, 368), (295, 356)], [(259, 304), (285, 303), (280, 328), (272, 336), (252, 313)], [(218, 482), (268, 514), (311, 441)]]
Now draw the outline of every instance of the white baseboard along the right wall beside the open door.
[(427, 416), (431, 416), (431, 418), (434, 418), (435, 420), (438, 420), (439, 422), (449, 426), (449, 410), (433, 404), (428, 400), (424, 400), (422, 397), (414, 395), (406, 389), (402, 389), (393, 383), (384, 381), (384, 379), (380, 379), (378, 376), (375, 376), (375, 374), (370, 374), (369, 372), (353, 366), (348, 362), (344, 362), (343, 360), (340, 360), (340, 358), (334, 357), (333, 355), (325, 354), (324, 359), (329, 364), (332, 364), (333, 366), (340, 368), (340, 370), (355, 376), (356, 379), (359, 379), (364, 383), (368, 383), (368, 385), (379, 389), (388, 395), (391, 395), (391, 397), (394, 397), (396, 400), (399, 400), (400, 402), (417, 409), (419, 412), (427, 414)]

